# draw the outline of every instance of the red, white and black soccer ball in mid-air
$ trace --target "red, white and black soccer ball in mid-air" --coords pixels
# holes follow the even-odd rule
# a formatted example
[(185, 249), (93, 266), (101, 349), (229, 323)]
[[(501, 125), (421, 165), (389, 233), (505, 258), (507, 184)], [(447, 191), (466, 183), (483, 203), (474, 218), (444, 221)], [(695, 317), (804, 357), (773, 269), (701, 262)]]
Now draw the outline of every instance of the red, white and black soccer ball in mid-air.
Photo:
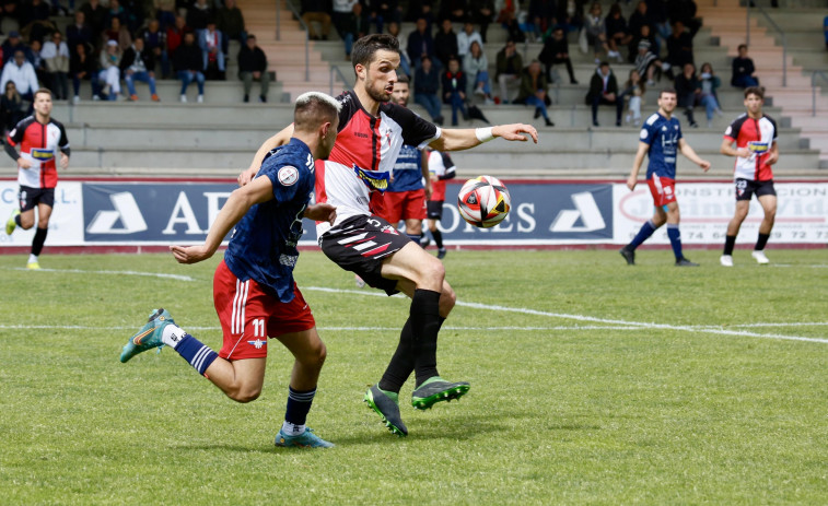
[(475, 226), (488, 228), (502, 222), (512, 207), (509, 190), (500, 179), (479, 176), (467, 180), (457, 196), (460, 216)]

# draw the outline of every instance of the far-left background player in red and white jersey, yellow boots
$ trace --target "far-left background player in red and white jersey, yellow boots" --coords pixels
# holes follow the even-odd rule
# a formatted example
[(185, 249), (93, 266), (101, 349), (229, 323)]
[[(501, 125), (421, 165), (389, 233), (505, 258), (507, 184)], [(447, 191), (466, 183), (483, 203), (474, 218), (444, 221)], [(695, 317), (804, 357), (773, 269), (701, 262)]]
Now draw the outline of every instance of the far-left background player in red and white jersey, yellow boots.
[[(5, 223), (5, 234), (14, 228), (25, 231), (35, 224), (37, 207), (37, 231), (32, 240), (32, 255), (26, 267), (39, 269), (37, 257), (43, 250), (49, 228), (51, 209), (55, 207), (55, 187), (58, 184), (57, 157), (60, 168), (69, 166), (69, 139), (63, 125), (51, 119), (51, 92), (40, 89), (35, 92), (35, 114), (23, 118), (5, 139), (5, 152), (18, 163), (20, 184), (20, 210), (14, 210)], [(20, 144), (20, 154), (14, 149)]]

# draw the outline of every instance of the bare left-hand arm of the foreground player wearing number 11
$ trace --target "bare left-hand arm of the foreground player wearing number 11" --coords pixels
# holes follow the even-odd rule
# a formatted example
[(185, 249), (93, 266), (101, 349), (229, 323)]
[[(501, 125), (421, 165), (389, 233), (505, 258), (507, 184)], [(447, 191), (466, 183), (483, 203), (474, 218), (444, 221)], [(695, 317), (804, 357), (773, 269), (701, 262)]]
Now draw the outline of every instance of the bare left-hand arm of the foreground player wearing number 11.
[(237, 188), (219, 211), (207, 233), (205, 244), (198, 246), (171, 246), (178, 263), (196, 263), (212, 257), (230, 231), (254, 205), (273, 198), (273, 184), (267, 177), (257, 177), (249, 185)]

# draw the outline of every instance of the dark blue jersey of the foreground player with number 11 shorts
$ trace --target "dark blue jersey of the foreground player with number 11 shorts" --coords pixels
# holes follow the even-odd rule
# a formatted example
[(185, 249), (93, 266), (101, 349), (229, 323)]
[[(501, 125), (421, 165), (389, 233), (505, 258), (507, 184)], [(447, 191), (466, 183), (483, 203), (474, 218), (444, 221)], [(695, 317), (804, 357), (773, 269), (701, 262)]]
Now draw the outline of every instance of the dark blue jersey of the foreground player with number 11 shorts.
[(240, 281), (253, 279), (288, 303), (293, 299), (302, 216), (316, 183), (311, 150), (291, 139), (270, 152), (256, 177), (270, 179), (273, 200), (253, 205), (236, 224), (224, 262)]

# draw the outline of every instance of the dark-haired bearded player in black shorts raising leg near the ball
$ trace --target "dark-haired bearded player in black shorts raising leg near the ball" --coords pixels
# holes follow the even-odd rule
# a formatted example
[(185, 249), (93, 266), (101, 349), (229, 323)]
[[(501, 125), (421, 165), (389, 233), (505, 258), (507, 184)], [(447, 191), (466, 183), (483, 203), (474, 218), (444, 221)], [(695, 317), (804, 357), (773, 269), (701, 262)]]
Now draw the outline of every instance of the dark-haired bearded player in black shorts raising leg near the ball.
[[(469, 385), (446, 381), (436, 368), (438, 333), (455, 302), (443, 263), (399, 235), (388, 222), (372, 215), (383, 199), (392, 167), (403, 144), (457, 151), (495, 137), (526, 141), (524, 133), (537, 142), (537, 130), (529, 125), (441, 130), (388, 103), (399, 58), (398, 42), (388, 35), (369, 35), (353, 46), (357, 84), (352, 92), (337, 98), (342, 104), (337, 142), (316, 177), (317, 201), (336, 205), (337, 219), (334, 226), (317, 224), (316, 232), (322, 250), (339, 267), (388, 294), (399, 291), (411, 297), (397, 350), (380, 383), (365, 393), (365, 401), (392, 432), (405, 435), (408, 429), (399, 414), (398, 393), (412, 372), (416, 388), (411, 403), (418, 409), (456, 399), (468, 391)], [(246, 184), (255, 174), (253, 167), (273, 146), (284, 143), (292, 131), (293, 126), (289, 126), (268, 139), (252, 168), (240, 175), (240, 183)]]

